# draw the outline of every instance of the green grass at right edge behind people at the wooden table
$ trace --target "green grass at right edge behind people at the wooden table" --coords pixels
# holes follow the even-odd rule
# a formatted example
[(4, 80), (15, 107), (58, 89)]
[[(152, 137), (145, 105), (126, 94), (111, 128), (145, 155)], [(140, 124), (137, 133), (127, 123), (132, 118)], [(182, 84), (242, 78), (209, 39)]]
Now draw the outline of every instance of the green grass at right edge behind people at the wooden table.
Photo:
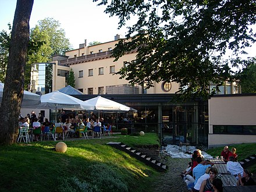
[[(237, 160), (241, 161), (244, 158), (249, 157), (250, 155), (256, 154), (256, 143), (252, 144), (237, 144), (237, 145), (229, 145), (229, 149), (231, 148), (236, 148), (236, 153), (238, 155)], [(223, 150), (223, 147), (216, 147), (216, 148), (211, 148), (207, 150), (206, 152), (213, 157), (216, 155), (221, 155), (221, 151)], [(248, 168), (251, 170), (252, 173), (256, 174), (256, 165), (250, 166)]]

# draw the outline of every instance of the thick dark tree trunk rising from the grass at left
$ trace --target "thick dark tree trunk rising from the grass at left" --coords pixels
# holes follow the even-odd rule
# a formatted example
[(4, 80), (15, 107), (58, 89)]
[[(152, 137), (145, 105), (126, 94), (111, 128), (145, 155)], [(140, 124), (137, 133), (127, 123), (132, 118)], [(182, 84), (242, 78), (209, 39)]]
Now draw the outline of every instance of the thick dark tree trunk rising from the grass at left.
[(17, 0), (5, 87), (0, 108), (0, 144), (10, 145), (16, 142), (20, 107), (24, 92), (24, 68), (29, 44), (29, 20), (34, 0)]

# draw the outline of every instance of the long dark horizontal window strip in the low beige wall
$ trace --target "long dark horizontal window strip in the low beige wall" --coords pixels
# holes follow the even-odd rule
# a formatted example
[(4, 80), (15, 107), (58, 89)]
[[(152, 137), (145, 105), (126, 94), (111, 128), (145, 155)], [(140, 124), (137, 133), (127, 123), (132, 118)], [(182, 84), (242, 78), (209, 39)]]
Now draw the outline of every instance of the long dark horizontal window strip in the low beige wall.
[(214, 125), (214, 134), (256, 134), (256, 125)]

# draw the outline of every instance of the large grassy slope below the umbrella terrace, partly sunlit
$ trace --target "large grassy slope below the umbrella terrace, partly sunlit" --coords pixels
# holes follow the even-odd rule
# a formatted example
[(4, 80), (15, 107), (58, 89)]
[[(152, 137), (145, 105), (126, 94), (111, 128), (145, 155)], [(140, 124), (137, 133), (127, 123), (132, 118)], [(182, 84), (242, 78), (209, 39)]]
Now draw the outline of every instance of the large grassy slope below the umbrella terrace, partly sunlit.
[(131, 147), (158, 145), (157, 134), (0, 147), (1, 191), (150, 191), (159, 175), (125, 152), (106, 145), (120, 141)]

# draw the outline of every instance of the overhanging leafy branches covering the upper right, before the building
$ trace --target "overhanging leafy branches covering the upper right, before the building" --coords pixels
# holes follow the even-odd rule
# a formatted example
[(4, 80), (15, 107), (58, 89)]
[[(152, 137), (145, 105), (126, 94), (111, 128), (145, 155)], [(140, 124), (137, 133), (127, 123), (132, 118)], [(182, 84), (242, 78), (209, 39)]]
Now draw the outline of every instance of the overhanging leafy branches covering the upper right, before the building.
[(191, 95), (206, 99), (209, 82), (221, 85), (223, 79), (232, 80), (230, 62), (223, 62), (227, 48), (234, 58), (255, 42), (250, 26), (255, 24), (256, 4), (251, 0), (102, 0), (98, 5), (106, 5), (106, 13), (119, 17), (119, 28), (137, 18), (113, 49), (115, 61), (133, 49), (138, 53), (118, 74), (147, 88), (153, 81), (175, 81), (183, 99)]

